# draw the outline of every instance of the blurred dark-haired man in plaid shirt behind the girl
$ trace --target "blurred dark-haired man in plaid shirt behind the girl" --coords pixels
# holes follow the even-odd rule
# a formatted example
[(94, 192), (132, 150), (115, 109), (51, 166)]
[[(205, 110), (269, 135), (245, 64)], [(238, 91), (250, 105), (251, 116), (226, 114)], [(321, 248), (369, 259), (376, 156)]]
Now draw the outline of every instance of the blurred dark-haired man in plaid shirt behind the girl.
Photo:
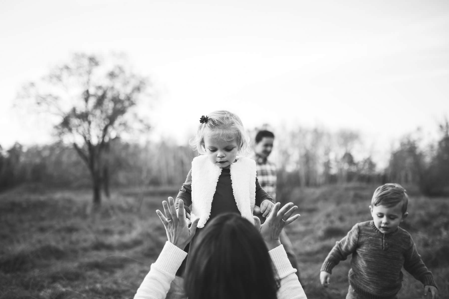
[[(276, 201), (276, 165), (268, 160), (268, 156), (271, 154), (273, 149), (273, 142), (273, 132), (268, 130), (261, 130), (257, 132), (255, 135), (254, 154), (251, 158), (254, 159), (256, 163), (257, 179), (259, 180), (260, 186), (268, 193), (268, 195), (271, 196), (274, 201)], [(254, 215), (259, 217), (261, 223), (263, 223), (264, 219), (262, 214), (256, 208), (257, 207), (254, 209)], [(298, 275), (299, 278), (298, 262), (296, 260), (295, 251), (293, 250), (293, 245), (284, 230), (282, 230), (280, 240), (282, 245), (284, 245), (292, 267), (297, 270), (296, 275)]]

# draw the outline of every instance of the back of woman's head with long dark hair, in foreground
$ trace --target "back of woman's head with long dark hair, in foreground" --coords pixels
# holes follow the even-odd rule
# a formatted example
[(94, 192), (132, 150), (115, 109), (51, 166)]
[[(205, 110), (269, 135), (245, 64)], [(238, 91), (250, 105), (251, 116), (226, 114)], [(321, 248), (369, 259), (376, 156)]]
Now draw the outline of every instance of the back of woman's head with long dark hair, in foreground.
[(211, 220), (190, 248), (185, 272), (189, 299), (275, 299), (278, 288), (264, 240), (237, 213)]

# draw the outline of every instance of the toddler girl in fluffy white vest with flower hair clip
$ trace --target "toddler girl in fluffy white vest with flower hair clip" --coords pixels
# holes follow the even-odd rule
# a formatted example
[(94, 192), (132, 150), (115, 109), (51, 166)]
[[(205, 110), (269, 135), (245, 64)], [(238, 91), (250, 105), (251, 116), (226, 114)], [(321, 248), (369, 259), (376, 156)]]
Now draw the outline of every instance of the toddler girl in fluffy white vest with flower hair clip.
[[(199, 230), (225, 212), (237, 212), (254, 222), (255, 205), (260, 207), (263, 217), (268, 216), (274, 206), (273, 199), (256, 178), (255, 161), (242, 156), (250, 151), (250, 147), (240, 117), (226, 110), (203, 115), (190, 145), (200, 155), (192, 161), (176, 203), (182, 200), (187, 217), (191, 214), (191, 217), (199, 218)], [(184, 271), (183, 268), (181, 266), (177, 275)]]

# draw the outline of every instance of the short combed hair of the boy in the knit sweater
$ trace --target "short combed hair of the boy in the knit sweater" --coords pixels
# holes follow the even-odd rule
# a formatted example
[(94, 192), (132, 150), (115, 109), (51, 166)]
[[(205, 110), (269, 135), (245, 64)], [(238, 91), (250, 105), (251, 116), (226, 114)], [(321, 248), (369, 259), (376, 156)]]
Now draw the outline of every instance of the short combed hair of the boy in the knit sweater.
[(401, 212), (404, 214), (407, 212), (409, 196), (407, 195), (407, 191), (396, 183), (387, 183), (377, 187), (371, 199), (371, 205), (373, 207), (380, 204), (390, 208), (399, 203), (402, 203)]

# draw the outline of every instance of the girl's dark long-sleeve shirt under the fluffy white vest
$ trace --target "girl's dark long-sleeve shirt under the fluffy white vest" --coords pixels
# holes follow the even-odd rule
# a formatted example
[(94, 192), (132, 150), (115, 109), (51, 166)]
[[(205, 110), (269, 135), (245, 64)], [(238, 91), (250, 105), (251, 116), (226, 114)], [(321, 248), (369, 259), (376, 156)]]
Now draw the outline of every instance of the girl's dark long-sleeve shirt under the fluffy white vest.
[[(257, 178), (255, 179), (255, 205), (260, 206), (260, 203), (265, 199), (274, 202), (273, 199), (265, 192), (259, 184)], [(184, 207), (186, 212), (190, 213), (188, 208), (192, 204), (192, 169), (190, 169), (185, 179), (185, 183), (182, 185), (178, 196), (176, 196), (176, 207), (178, 200), (184, 201)], [(222, 169), (220, 177), (218, 178), (216, 191), (214, 198), (212, 199), (211, 216), (209, 221), (216, 217), (218, 214), (225, 212), (237, 212), (237, 204), (233, 195), (231, 172), (230, 169)]]

